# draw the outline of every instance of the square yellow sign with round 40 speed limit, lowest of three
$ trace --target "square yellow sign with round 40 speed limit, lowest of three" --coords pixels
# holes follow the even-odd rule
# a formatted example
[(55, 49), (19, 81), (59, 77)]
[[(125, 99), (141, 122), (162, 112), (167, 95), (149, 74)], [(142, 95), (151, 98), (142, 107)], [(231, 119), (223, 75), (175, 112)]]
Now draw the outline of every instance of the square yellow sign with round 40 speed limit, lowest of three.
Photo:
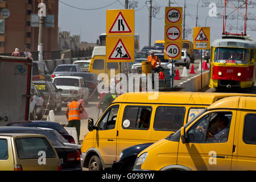
[(181, 59), (181, 42), (164, 43), (164, 59)]

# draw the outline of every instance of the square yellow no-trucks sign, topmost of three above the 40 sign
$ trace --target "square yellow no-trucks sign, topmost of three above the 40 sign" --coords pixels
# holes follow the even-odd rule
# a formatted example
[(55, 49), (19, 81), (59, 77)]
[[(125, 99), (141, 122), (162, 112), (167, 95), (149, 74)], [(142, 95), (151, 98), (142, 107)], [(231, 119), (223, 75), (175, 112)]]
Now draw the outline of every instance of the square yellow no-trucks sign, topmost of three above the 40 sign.
[(182, 7), (166, 7), (165, 24), (182, 24)]

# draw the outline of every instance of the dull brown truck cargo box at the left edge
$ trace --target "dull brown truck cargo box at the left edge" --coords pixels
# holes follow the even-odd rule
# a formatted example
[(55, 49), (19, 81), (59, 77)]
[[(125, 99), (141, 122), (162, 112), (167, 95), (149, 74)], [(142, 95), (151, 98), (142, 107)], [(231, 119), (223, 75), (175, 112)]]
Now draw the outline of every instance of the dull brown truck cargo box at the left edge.
[(29, 118), (32, 60), (0, 56), (0, 126)]

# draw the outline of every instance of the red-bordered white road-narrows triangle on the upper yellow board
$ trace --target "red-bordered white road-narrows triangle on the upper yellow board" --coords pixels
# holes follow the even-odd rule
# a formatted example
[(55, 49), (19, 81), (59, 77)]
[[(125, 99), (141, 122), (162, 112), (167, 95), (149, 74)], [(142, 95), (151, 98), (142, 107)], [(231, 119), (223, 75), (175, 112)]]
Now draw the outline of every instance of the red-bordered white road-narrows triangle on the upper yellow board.
[(110, 27), (109, 33), (131, 33), (131, 28), (121, 11), (118, 13), (117, 18), (115, 18), (114, 23)]

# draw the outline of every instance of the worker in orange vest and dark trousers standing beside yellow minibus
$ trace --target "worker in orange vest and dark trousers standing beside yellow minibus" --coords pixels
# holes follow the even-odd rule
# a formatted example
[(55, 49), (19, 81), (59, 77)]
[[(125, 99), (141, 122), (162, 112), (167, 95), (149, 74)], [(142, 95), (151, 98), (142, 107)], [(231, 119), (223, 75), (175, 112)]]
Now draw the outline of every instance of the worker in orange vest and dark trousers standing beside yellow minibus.
[(80, 136), (80, 126), (81, 126), (81, 117), (80, 113), (82, 113), (84, 109), (82, 109), (81, 102), (77, 102), (75, 98), (73, 98), (72, 102), (70, 102), (67, 106), (66, 117), (68, 119), (68, 127), (76, 127), (77, 139), (79, 140)]

